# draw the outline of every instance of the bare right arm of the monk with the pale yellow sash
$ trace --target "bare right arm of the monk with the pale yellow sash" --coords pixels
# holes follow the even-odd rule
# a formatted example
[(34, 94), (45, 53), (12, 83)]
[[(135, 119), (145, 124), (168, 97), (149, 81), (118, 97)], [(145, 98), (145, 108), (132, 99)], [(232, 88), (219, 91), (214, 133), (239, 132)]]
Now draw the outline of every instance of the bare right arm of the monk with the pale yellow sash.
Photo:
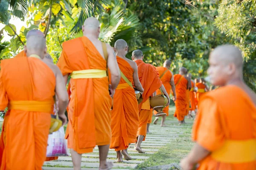
[(113, 48), (107, 44), (108, 49), (108, 68), (111, 73), (111, 88), (112, 90), (115, 90), (117, 85), (119, 84), (121, 75), (119, 71), (119, 66), (116, 61), (116, 54), (113, 51)]

